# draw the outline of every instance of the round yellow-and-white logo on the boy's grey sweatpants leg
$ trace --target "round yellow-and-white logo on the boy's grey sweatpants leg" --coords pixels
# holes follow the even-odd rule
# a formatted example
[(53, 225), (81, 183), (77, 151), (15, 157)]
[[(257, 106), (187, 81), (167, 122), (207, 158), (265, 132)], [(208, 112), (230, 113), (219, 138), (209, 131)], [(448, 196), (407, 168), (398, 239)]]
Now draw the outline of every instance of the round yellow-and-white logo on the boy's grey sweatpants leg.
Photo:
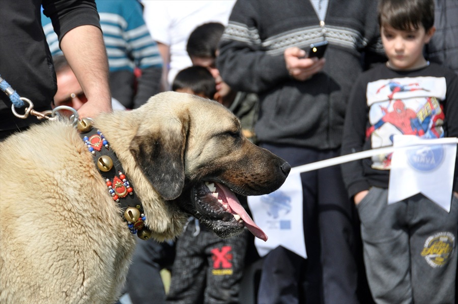
[(431, 267), (442, 267), (453, 255), (454, 245), (455, 237), (452, 233), (439, 232), (426, 239), (421, 256)]

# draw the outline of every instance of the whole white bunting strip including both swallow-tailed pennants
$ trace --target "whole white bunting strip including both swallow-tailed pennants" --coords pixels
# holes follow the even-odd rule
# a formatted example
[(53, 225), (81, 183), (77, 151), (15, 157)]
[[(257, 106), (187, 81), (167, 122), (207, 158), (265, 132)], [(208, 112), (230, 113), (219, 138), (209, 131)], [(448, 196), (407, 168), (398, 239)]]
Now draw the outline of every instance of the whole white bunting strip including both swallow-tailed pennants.
[[(441, 139), (421, 139), (417, 136), (396, 135), (394, 146), (386, 146), (332, 159), (297, 166), (277, 191), (261, 196), (249, 196), (248, 206), (255, 223), (269, 237), (266, 242), (255, 238), (254, 245), (261, 257), (272, 249), (282, 246), (307, 258), (302, 225), (302, 184), (300, 173), (339, 165), (346, 162), (392, 153), (389, 181), (389, 203), (397, 202), (421, 192), (437, 202), (445, 210), (450, 210), (453, 183), (454, 162), (456, 156), (455, 137)], [(411, 138), (412, 139), (408, 139)], [(413, 145), (413, 146), (412, 146)], [(437, 146), (442, 147), (441, 149)], [(410, 160), (409, 160), (410, 159)], [(415, 166), (404, 171), (409, 162)], [(433, 168), (433, 164), (438, 164)], [(413, 169), (415, 168), (415, 169)], [(420, 178), (421, 176), (421, 178)], [(408, 184), (407, 184), (408, 183)], [(398, 190), (400, 188), (400, 190)]]

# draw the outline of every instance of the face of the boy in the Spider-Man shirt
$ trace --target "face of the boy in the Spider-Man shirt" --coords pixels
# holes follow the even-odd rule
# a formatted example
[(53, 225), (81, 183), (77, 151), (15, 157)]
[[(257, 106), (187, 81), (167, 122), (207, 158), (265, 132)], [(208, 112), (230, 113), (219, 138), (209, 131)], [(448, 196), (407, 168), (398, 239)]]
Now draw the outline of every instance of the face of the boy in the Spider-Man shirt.
[(380, 29), (383, 47), (388, 57), (388, 64), (396, 70), (414, 70), (426, 64), (423, 46), (430, 42), (435, 32), (432, 27), (427, 33), (423, 26), (410, 31), (395, 29), (383, 25)]

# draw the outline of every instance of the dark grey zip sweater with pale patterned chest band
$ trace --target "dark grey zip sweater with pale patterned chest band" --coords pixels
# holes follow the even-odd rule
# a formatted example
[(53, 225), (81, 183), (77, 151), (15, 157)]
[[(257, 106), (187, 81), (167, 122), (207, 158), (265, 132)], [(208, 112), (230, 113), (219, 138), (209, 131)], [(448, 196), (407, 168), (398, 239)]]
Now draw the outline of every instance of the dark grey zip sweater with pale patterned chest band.
[[(292, 79), (283, 52), (326, 39), (326, 64)], [(364, 59), (362, 53), (365, 53)], [(233, 89), (260, 96), (260, 142), (316, 149), (340, 146), (347, 98), (364, 63), (385, 60), (376, 1), (329, 0), (325, 20), (309, 1), (238, 1), (221, 38), (217, 66)]]

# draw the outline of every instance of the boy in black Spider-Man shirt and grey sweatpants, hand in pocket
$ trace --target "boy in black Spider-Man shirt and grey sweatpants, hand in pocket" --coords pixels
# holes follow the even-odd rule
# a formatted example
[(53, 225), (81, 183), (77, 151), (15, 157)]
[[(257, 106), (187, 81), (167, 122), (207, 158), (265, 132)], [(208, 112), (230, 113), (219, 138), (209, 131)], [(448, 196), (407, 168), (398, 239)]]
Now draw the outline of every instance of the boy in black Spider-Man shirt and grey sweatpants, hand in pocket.
[[(395, 134), (458, 137), (458, 78), (422, 53), (435, 31), (433, 0), (381, 0), (379, 24), (388, 62), (356, 81), (342, 154), (391, 145)], [(342, 165), (361, 220), (370, 291), (377, 303), (454, 303), (458, 162), (447, 212), (422, 194), (388, 205), (389, 160)]]

